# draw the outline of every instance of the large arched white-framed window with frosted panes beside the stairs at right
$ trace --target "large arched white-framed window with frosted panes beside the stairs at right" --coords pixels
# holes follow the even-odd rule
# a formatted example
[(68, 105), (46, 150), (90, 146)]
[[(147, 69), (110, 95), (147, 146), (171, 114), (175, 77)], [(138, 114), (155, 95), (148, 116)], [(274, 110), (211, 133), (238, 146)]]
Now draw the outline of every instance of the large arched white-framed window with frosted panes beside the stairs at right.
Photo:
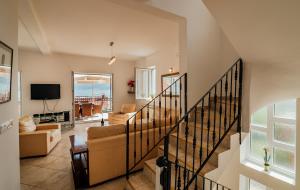
[(251, 117), (249, 159), (263, 164), (263, 148), (271, 154), (271, 168), (291, 177), (296, 165), (296, 100), (279, 102)]

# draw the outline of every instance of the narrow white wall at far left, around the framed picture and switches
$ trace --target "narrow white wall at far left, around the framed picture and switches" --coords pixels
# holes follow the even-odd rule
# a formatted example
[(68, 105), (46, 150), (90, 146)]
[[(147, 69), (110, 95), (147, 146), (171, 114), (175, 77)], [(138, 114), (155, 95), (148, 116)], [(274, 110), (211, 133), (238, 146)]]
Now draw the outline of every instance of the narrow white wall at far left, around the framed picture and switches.
[(20, 188), (19, 129), (17, 105), (18, 1), (0, 0), (0, 40), (14, 49), (12, 100), (0, 104), (0, 123), (14, 120), (14, 127), (0, 135), (0, 189)]

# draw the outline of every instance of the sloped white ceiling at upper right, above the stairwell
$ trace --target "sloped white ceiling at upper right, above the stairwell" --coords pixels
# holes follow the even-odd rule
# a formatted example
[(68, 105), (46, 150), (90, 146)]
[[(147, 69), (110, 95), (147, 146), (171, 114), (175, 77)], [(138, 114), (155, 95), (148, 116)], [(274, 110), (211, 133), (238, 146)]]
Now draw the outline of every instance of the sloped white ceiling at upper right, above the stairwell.
[(300, 1), (204, 0), (247, 62), (299, 64)]

